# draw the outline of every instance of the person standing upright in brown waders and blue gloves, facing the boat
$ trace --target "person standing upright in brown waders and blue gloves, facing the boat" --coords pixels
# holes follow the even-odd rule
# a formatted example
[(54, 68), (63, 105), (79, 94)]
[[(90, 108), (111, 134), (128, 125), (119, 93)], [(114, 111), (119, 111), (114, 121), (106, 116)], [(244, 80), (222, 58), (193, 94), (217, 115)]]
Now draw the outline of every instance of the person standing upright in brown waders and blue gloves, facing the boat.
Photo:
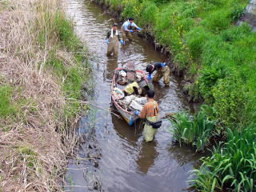
[(120, 35), (118, 33), (118, 23), (114, 23), (112, 29), (106, 34), (106, 44), (108, 45), (106, 54), (108, 56), (113, 53), (114, 57), (118, 56), (118, 42), (125, 44), (122, 39), (120, 39)]

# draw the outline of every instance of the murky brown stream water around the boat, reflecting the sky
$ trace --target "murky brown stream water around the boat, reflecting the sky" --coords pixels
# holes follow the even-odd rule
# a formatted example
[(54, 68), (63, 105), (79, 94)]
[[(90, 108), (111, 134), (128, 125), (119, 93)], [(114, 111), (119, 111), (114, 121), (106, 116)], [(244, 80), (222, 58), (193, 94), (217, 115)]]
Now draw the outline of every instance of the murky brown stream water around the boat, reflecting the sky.
[[(105, 38), (113, 23), (110, 16), (103, 14), (100, 6), (84, 0), (66, 0), (66, 13), (74, 19), (78, 36), (94, 56), (90, 58), (95, 80), (90, 99), (96, 103), (78, 127), (85, 142), (79, 147), (77, 158), (70, 158), (65, 191), (186, 191), (188, 172), (198, 165), (202, 154), (172, 144), (168, 121), (163, 121), (154, 142), (145, 143), (141, 123), (128, 126), (107, 110), (112, 106), (110, 84), (114, 69), (134, 61), (136, 69), (145, 70), (147, 64), (161, 62), (161, 54), (148, 42), (134, 37), (126, 46), (120, 46), (118, 58), (108, 58)], [(172, 75), (170, 87), (162, 81), (154, 84), (161, 115), (194, 110), (181, 87)]]

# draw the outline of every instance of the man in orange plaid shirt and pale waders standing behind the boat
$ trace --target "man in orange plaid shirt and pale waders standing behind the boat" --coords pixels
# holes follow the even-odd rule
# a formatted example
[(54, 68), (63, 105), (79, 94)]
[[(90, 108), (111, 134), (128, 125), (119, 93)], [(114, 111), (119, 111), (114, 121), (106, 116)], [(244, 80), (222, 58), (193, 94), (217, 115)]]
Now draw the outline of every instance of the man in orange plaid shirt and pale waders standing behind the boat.
[(136, 110), (135, 115), (138, 115), (139, 118), (146, 118), (146, 122), (143, 129), (143, 136), (146, 142), (150, 142), (154, 139), (154, 134), (157, 133), (157, 129), (154, 129), (147, 122), (157, 122), (159, 118), (159, 107), (158, 102), (154, 101), (154, 90), (148, 90), (147, 94), (147, 103), (144, 105), (142, 111)]

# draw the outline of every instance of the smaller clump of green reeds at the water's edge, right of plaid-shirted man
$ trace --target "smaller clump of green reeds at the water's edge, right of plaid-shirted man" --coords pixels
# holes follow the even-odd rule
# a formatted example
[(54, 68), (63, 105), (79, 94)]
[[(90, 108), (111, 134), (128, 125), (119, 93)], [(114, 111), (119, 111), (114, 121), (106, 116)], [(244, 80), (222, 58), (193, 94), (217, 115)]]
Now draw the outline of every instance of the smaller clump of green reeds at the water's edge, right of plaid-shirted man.
[(205, 114), (198, 113), (194, 117), (181, 112), (170, 119), (170, 132), (180, 143), (192, 145), (197, 151), (202, 151), (210, 143), (214, 135), (214, 121), (206, 118)]

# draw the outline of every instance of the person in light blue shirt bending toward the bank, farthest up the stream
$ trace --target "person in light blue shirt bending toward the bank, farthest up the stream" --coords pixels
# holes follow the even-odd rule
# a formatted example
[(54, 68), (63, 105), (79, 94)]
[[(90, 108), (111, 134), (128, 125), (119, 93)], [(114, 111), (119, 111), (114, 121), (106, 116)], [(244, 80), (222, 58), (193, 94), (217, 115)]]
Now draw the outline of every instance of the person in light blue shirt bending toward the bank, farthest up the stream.
[(133, 33), (134, 30), (141, 31), (142, 29), (134, 23), (134, 18), (129, 18), (121, 27), (122, 41), (126, 42), (126, 37), (130, 40), (132, 38), (131, 33)]

